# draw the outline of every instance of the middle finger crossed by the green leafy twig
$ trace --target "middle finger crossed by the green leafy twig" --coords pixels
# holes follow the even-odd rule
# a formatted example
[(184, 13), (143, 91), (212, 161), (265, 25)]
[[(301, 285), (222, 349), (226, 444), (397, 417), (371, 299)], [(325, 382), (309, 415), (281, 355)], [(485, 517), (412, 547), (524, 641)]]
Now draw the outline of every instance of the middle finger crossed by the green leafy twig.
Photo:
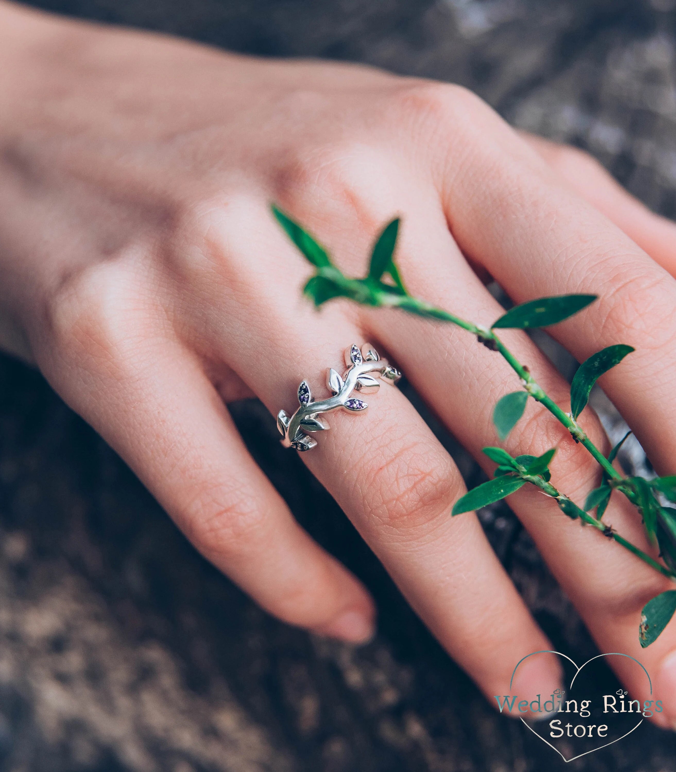
[[(443, 213), (437, 209), (437, 222), (430, 218), (434, 210), (433, 197), (426, 199), (424, 191), (418, 191), (415, 203), (406, 208), (408, 216), (398, 254), (409, 291), (466, 319), (497, 317), (501, 307), (461, 259), (444, 227)], [(416, 252), (423, 239), (426, 249), (422, 260), (416, 258)], [(596, 462), (533, 401), (508, 441), (498, 440), (491, 420), (494, 405), (504, 394), (517, 390), (519, 382), (501, 357), (477, 344), (474, 337), (457, 327), (430, 325), (428, 320), (395, 310), (373, 310), (368, 320), (369, 336), (392, 350), (416, 391), (489, 474), (494, 464), (481, 452), (487, 445), (504, 445), (513, 456), (541, 455), (555, 447), (558, 450), (551, 465), (552, 482), (562, 493), (581, 504), (586, 493), (598, 485)], [(421, 340), (426, 341), (424, 346)], [(515, 336), (510, 349), (519, 361), (528, 364), (542, 388), (568, 409), (568, 384), (532, 341)], [(607, 452), (607, 441), (596, 416), (587, 415), (583, 425)], [(676, 649), (676, 635), (665, 632), (659, 646), (644, 652), (640, 649), (638, 625), (640, 609), (670, 583), (596, 530), (583, 529), (569, 520), (551, 499), (535, 489), (523, 489), (509, 500), (601, 650), (624, 652), (644, 662), (656, 677), (658, 696), (651, 696), (643, 672), (635, 663), (617, 658), (612, 664), (626, 686), (642, 700), (664, 698), (664, 686), (661, 693), (657, 692), (657, 672), (666, 653)], [(636, 511), (624, 499), (613, 497), (604, 520), (657, 557), (647, 543)], [(654, 720), (660, 718), (656, 714)]]

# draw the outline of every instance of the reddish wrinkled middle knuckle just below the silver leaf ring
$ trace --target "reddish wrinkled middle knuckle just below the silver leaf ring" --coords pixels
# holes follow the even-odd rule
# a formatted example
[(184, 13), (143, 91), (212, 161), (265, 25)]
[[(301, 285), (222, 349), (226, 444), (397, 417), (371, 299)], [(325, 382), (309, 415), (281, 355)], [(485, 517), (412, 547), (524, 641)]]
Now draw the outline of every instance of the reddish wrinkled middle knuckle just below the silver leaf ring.
[(372, 491), (369, 515), (392, 530), (429, 528), (450, 512), (464, 489), (453, 462), (430, 448), (403, 445), (365, 480)]

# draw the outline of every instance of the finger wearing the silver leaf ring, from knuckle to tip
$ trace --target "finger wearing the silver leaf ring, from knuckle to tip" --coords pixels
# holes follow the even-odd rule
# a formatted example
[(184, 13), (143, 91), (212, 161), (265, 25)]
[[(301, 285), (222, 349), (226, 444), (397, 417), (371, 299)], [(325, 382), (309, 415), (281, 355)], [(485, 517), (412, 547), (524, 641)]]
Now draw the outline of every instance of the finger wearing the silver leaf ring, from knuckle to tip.
[[(255, 227), (254, 227), (255, 224)], [(246, 338), (219, 341), (218, 317), (209, 345), (260, 395), (270, 411), (288, 413), (298, 405), (301, 380), (313, 394), (328, 396), (325, 369), (343, 371), (343, 350), (358, 341), (358, 328), (334, 305), (321, 314), (297, 300), (307, 268), (282, 238), (267, 212), (230, 202), (212, 212), (202, 231), (210, 234), (209, 264), (223, 275), (204, 283), (201, 307), (216, 307), (215, 287), (232, 283), (233, 258), (215, 253), (214, 244), (236, 255), (237, 300), (223, 313), (243, 319), (260, 355), (250, 356)], [(246, 273), (253, 256), (276, 259), (262, 284)], [(293, 269), (290, 269), (292, 266)], [(255, 299), (255, 303), (254, 303)], [(264, 309), (265, 313), (256, 311)], [(359, 341), (361, 342), (361, 341)], [(320, 396), (321, 395), (321, 396)], [(369, 396), (369, 413), (331, 412), (331, 429), (318, 446), (302, 455), (307, 465), (355, 523), (406, 598), (453, 657), (491, 701), (508, 694), (515, 662), (551, 648), (519, 598), (484, 537), (475, 516), (450, 517), (451, 503), (464, 490), (450, 457), (406, 398), (384, 384)], [(293, 452), (293, 451), (291, 451)], [(534, 659), (521, 674), (521, 693), (555, 689), (559, 665), (549, 655)]]

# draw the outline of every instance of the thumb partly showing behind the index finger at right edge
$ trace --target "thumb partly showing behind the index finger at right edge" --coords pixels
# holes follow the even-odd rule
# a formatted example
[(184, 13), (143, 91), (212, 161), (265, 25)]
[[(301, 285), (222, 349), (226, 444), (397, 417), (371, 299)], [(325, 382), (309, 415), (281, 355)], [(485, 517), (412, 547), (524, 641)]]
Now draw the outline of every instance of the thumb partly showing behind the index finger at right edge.
[(656, 215), (619, 185), (596, 159), (576, 147), (521, 133), (521, 137), (581, 198), (606, 215), (652, 259), (676, 276), (676, 224)]

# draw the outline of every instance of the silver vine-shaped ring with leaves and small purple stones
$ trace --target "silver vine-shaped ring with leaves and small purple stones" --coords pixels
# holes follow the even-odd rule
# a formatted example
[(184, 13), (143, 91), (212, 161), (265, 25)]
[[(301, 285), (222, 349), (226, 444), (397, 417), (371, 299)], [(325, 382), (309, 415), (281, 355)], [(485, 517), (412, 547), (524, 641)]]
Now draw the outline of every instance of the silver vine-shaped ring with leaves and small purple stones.
[[(277, 414), (277, 428), (283, 437), (282, 445), (296, 450), (310, 450), (317, 445), (317, 440), (307, 432), (323, 432), (329, 426), (319, 417), (321, 413), (342, 408), (351, 413), (363, 413), (369, 407), (362, 399), (352, 397), (353, 391), (359, 394), (372, 394), (380, 388), (378, 378), (389, 384), (395, 384), (401, 378), (401, 373), (395, 367), (381, 359), (378, 352), (370, 344), (364, 344), (359, 349), (357, 344), (345, 349), (345, 364), (348, 369), (341, 376), (328, 367), (326, 385), (332, 397), (314, 402), (307, 381), (301, 381), (298, 387), (298, 402), (300, 407), (290, 417), (286, 411)], [(375, 376), (375, 378), (374, 378)]]

